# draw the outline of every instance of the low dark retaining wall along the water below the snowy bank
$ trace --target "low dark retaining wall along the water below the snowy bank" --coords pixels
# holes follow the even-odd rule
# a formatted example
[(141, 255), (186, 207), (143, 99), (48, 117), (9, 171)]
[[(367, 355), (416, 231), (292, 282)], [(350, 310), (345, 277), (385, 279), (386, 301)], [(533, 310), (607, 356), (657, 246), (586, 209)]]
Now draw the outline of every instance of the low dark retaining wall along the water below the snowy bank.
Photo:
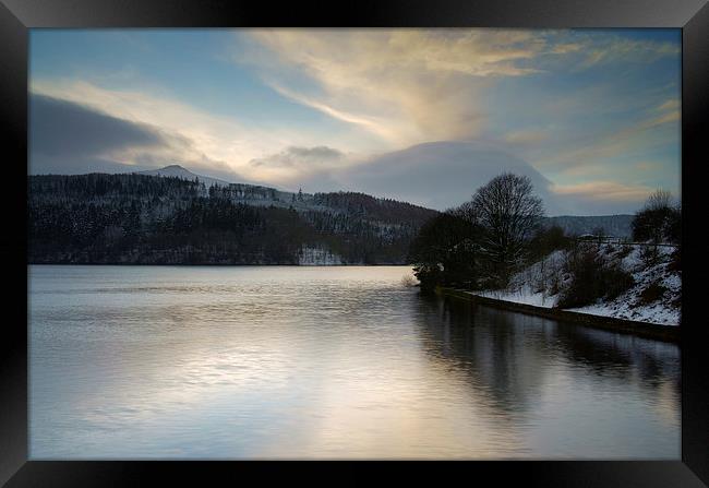
[(481, 297), (471, 291), (436, 287), (436, 295), (467, 300), (473, 303), (488, 307), (509, 310), (513, 312), (526, 313), (529, 316), (543, 317), (564, 322), (572, 322), (596, 329), (603, 329), (621, 334), (630, 334), (639, 337), (653, 338), (664, 342), (680, 342), (680, 325), (661, 325), (650, 322), (638, 322), (634, 320), (617, 319), (615, 317), (593, 316), (590, 313), (574, 312), (569, 310), (537, 307), (515, 301), (500, 300), (496, 298)]

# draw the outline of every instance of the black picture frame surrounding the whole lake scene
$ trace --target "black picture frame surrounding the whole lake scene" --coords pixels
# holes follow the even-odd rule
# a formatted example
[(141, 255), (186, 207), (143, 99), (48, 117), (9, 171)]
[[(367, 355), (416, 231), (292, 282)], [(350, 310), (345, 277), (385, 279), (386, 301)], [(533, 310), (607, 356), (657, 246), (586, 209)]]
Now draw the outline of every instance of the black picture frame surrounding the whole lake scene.
[[(329, 4), (291, 2), (283, 7), (243, 1), (158, 0), (0, 0), (0, 120), (3, 136), (4, 189), (0, 191), (12, 227), (0, 237), (5, 272), (5, 321), (0, 340), (0, 483), (7, 486), (140, 485), (146, 477), (204, 483), (205, 476), (244, 473), (274, 476), (300, 472), (317, 463), (248, 462), (44, 462), (27, 454), (27, 39), (34, 27), (678, 27), (682, 28), (682, 200), (683, 319), (682, 460), (519, 461), (392, 463), (399, 474), (421, 478), (435, 471), (462, 479), (509, 479), (533, 486), (700, 487), (709, 485), (708, 326), (701, 318), (702, 202), (701, 156), (709, 114), (709, 7), (706, 0), (497, 0), (489, 2), (340, 1)], [(7, 157), (7, 158), (5, 158)], [(24, 286), (23, 286), (24, 285)], [(12, 313), (7, 313), (11, 311)], [(337, 480), (369, 480), (362, 467), (381, 463), (331, 462), (344, 471)], [(343, 476), (345, 475), (345, 476)], [(492, 478), (490, 478), (492, 476)]]

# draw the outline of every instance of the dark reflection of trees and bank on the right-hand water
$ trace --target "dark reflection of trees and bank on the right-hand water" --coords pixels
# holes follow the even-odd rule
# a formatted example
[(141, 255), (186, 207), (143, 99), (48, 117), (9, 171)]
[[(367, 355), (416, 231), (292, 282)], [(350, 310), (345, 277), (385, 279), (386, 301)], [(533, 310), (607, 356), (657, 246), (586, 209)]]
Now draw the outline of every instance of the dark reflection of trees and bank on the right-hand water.
[(545, 369), (562, 361), (584, 372), (633, 382), (648, 393), (670, 384), (680, 396), (675, 344), (506, 313), (456, 299), (421, 297), (419, 324), (426, 352), (466, 366), (501, 400), (524, 407), (524, 392), (543, 383)]

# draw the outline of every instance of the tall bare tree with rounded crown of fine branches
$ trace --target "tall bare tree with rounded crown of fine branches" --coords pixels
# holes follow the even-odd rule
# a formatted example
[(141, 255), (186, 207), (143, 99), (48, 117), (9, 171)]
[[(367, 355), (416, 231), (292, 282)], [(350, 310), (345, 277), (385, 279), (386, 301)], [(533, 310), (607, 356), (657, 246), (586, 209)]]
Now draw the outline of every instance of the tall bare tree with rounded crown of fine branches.
[(502, 282), (520, 262), (525, 242), (544, 215), (529, 177), (504, 172), (478, 189), (472, 198), (478, 223), (485, 229), (482, 251)]

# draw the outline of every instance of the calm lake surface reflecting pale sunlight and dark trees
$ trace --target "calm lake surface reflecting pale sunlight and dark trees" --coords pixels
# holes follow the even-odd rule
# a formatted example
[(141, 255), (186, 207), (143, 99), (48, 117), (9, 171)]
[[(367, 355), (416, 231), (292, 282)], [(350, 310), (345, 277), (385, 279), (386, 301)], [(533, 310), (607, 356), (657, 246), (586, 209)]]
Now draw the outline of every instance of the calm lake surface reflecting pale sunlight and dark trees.
[(32, 459), (680, 459), (673, 344), (406, 266), (28, 266)]

